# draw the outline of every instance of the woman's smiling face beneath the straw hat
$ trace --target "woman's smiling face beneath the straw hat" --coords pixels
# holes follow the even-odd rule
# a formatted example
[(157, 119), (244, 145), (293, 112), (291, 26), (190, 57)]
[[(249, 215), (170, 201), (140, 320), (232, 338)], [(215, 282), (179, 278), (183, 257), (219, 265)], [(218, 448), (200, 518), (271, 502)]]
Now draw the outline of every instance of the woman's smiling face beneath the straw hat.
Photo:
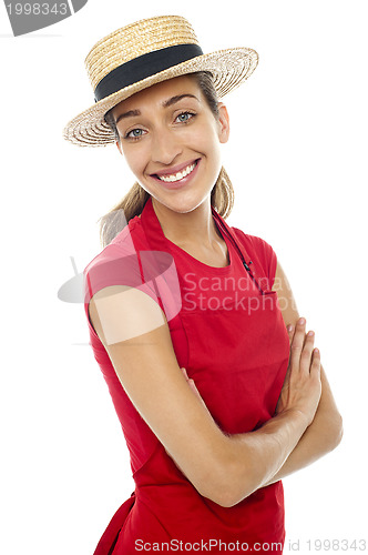
[(193, 77), (157, 83), (113, 109), (117, 148), (137, 182), (157, 202), (190, 212), (208, 198), (228, 138), (226, 108), (211, 111)]

